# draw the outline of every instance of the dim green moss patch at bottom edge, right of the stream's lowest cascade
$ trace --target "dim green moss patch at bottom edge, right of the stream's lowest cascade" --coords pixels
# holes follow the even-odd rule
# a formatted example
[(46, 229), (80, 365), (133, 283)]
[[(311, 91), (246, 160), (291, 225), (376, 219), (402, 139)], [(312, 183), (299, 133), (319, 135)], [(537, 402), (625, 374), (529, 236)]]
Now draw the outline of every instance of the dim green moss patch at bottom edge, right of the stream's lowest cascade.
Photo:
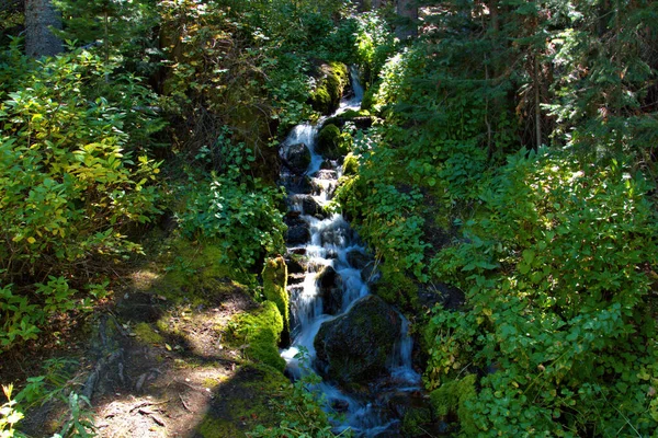
[(466, 406), (467, 402), (476, 396), (475, 378), (475, 374), (468, 374), (461, 380), (445, 382), (430, 393), (434, 414), (439, 417), (456, 415), (466, 436), (475, 436), (479, 430), (475, 425), (473, 413)]

